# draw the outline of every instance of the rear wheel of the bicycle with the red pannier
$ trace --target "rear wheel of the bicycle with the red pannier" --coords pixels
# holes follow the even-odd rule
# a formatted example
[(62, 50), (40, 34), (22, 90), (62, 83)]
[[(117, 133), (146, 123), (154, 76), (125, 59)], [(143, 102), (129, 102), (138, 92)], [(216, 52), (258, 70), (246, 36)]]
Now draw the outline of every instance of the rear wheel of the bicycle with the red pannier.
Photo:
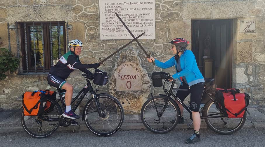
[(207, 102), (203, 108), (203, 117), (211, 116), (218, 118), (205, 118), (207, 126), (214, 132), (219, 134), (233, 134), (243, 127), (245, 124), (247, 114), (243, 118), (228, 118), (216, 108), (215, 103), (211, 100)]

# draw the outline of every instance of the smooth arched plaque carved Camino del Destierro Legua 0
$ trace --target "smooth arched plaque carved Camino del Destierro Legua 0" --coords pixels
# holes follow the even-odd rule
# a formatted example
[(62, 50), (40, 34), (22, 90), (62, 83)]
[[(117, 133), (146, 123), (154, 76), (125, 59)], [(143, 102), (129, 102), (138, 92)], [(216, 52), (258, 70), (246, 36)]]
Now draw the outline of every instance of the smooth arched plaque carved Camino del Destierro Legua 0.
[(142, 74), (138, 65), (132, 62), (124, 62), (116, 70), (117, 91), (141, 91)]

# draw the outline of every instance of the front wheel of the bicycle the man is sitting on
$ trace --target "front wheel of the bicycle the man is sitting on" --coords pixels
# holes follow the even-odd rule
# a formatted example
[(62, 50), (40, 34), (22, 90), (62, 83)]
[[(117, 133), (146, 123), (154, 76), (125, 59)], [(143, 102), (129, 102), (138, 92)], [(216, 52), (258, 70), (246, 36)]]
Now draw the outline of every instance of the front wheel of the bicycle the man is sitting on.
[(110, 136), (117, 132), (122, 126), (124, 111), (119, 101), (110, 95), (99, 95), (96, 97), (105, 116), (100, 117), (96, 104), (91, 98), (84, 109), (86, 127), (95, 135)]

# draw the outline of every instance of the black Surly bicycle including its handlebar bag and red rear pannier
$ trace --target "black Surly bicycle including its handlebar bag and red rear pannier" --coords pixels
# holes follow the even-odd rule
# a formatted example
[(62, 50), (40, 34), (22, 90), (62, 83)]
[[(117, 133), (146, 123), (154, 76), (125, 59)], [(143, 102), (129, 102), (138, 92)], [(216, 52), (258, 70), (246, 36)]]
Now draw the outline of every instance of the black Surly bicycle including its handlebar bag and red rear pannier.
[[(164, 84), (162, 84), (162, 79), (165, 79)], [(188, 91), (189, 89), (173, 88), (176, 80), (173, 79), (171, 86), (169, 86), (168, 79), (172, 79), (169, 73), (154, 72), (152, 74), (153, 86), (163, 86), (164, 94), (154, 97), (151, 94), (151, 98), (143, 104), (141, 109), (143, 124), (147, 129), (155, 133), (169, 132), (178, 124), (181, 113), (176, 101), (190, 113), (190, 119), (192, 120), (189, 106), (186, 106), (174, 94), (176, 91)], [(249, 98), (248, 94), (240, 93), (239, 89), (216, 88), (214, 78), (205, 79), (202, 99), (206, 103), (201, 108), (200, 117), (205, 119), (207, 126), (214, 132), (233, 134), (241, 129), (246, 121)], [(187, 125), (188, 129), (191, 128), (192, 123), (190, 122)]]

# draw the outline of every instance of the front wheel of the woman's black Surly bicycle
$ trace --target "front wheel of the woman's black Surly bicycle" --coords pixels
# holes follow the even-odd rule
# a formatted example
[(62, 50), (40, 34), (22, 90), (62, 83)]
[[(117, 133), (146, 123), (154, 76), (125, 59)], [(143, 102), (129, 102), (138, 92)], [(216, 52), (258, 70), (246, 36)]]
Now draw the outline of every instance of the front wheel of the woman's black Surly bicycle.
[[(164, 96), (155, 96), (153, 99), (150, 98), (143, 104), (141, 109), (141, 120), (144, 126), (154, 133), (169, 132), (178, 124), (178, 116), (180, 116), (179, 106), (177, 106), (176, 102), (171, 98), (169, 99), (166, 110), (160, 117), (160, 121), (158, 120), (157, 111), (160, 113), (163, 109), (165, 104), (164, 99)], [(174, 120), (173, 124), (170, 122), (172, 120)]]

